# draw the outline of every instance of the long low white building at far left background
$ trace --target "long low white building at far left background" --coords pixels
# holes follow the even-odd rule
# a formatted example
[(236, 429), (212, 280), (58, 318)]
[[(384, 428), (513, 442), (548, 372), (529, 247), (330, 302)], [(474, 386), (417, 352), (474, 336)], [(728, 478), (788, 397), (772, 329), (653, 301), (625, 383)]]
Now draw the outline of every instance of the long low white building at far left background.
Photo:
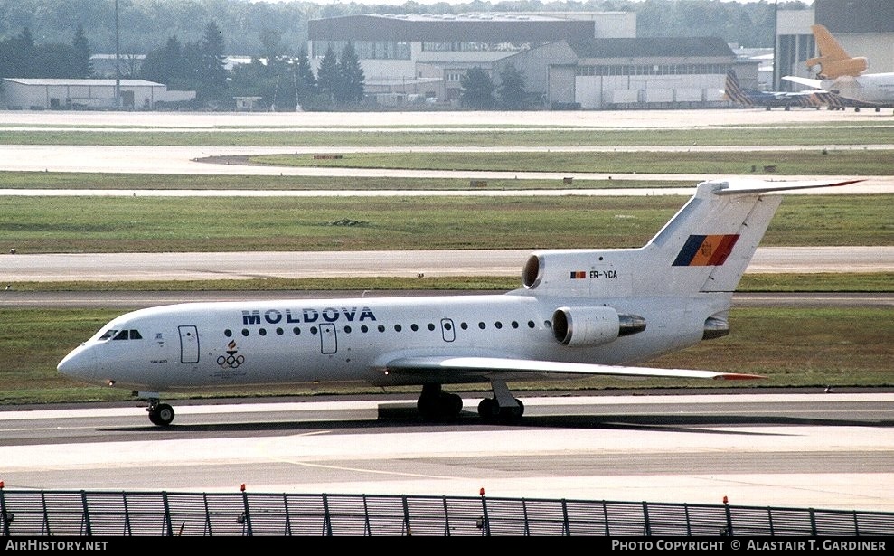
[(167, 90), (167, 85), (146, 80), (3, 78), (2, 81), (0, 108), (4, 109), (152, 110), (195, 99), (194, 90)]

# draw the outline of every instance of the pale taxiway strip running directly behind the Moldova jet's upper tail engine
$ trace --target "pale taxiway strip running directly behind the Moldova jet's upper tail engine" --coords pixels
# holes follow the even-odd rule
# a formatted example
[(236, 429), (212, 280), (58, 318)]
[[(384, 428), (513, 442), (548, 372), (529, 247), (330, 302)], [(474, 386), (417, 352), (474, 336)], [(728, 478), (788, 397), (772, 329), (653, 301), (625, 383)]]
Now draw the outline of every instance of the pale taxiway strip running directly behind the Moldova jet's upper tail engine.
[[(531, 250), (0, 255), (0, 285), (36, 281), (521, 277)], [(891, 272), (894, 246), (758, 248), (748, 273)], [(3, 293), (3, 292), (0, 292)]]

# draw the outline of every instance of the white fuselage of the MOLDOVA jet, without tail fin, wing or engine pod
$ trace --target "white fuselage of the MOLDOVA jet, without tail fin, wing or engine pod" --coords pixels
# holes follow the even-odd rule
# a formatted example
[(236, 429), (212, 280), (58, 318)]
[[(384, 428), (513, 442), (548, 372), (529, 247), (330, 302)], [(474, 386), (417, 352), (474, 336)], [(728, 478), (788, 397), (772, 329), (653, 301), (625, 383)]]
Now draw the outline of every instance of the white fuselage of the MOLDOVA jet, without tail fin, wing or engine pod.
[[(554, 313), (581, 302), (512, 292), (160, 306), (119, 316), (60, 368), (81, 380), (135, 391), (207, 391), (419, 383), (383, 372), (395, 354), (631, 363), (700, 342), (703, 323), (728, 306), (729, 296), (667, 297), (661, 304), (633, 297), (610, 304), (588, 299), (587, 306), (644, 317), (645, 330), (598, 345), (561, 344)], [(464, 373), (442, 382), (474, 378)], [(487, 380), (484, 373), (480, 380)]]

